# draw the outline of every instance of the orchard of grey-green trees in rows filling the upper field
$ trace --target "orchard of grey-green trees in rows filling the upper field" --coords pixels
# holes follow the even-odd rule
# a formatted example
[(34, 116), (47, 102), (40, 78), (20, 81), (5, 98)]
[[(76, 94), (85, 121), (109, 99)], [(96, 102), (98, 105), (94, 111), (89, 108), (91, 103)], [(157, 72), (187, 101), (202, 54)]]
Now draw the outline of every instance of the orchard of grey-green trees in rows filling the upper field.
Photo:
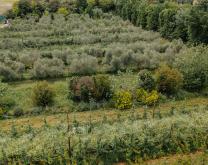
[(36, 19), (16, 19), (0, 31), (3, 81), (155, 69), (183, 47), (111, 14)]

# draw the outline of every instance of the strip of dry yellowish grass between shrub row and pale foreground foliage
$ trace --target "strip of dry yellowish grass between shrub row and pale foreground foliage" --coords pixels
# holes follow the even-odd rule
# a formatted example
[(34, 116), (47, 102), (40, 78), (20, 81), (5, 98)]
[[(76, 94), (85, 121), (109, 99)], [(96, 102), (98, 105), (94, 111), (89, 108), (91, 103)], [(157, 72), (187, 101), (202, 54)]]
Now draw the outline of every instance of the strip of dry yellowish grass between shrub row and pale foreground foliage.
[[(155, 113), (160, 111), (161, 115), (167, 115), (170, 113), (171, 109), (175, 109), (175, 111), (183, 110), (184, 108), (196, 108), (198, 109), (200, 106), (208, 106), (208, 98), (198, 97), (192, 98), (189, 100), (183, 101), (171, 101), (168, 103), (164, 103), (159, 105)], [(79, 123), (87, 123), (91, 118), (92, 122), (102, 121), (104, 118), (110, 121), (114, 121), (118, 118), (118, 116), (122, 119), (129, 117), (133, 112), (138, 117), (142, 118), (144, 114), (145, 108), (136, 108), (135, 110), (126, 110), (119, 111), (115, 109), (103, 109), (97, 111), (86, 111), (86, 112), (72, 112), (69, 114), (69, 122), (72, 123), (74, 119)], [(149, 118), (152, 117), (152, 108), (147, 109), (147, 116)], [(21, 129), (21, 127), (25, 125), (31, 125), (34, 128), (40, 128), (46, 122), (51, 126), (55, 126), (59, 123), (67, 122), (67, 114), (54, 114), (54, 115), (39, 115), (39, 116), (30, 116), (16, 119), (8, 119), (0, 121), (0, 130), (10, 130), (13, 125), (17, 128)]]

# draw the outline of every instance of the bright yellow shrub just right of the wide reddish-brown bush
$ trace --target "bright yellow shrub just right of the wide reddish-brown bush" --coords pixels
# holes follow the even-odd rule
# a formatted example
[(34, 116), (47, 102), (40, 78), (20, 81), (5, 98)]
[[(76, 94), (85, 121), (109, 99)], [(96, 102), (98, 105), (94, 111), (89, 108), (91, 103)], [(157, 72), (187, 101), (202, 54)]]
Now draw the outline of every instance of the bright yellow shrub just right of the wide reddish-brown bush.
[(115, 108), (117, 109), (130, 109), (133, 105), (133, 97), (128, 90), (116, 91), (113, 96)]

